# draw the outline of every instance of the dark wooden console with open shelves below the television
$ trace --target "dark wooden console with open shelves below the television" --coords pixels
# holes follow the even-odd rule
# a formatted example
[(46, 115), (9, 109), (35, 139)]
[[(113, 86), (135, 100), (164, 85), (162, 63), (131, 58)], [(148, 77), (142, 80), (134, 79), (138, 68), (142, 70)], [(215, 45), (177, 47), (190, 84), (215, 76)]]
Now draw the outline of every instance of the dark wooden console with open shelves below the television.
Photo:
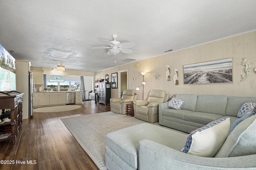
[(24, 93), (15, 92), (1, 93), (0, 95), (0, 109), (2, 109), (2, 115), (5, 113), (5, 109), (10, 109), (10, 122), (0, 124), (0, 141), (12, 140), (12, 144), (16, 143), (16, 137), (18, 136), (19, 129), (22, 126), (22, 98)]

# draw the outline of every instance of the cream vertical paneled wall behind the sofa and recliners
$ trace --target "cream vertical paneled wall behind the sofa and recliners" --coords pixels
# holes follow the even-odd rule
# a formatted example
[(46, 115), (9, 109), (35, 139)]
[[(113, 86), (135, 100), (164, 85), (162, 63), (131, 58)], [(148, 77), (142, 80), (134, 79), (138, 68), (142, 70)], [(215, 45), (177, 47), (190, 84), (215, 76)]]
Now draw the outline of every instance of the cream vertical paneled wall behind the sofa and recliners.
[[(245, 76), (244, 66), (241, 65), (243, 57), (254, 63), (250, 68), (249, 76), (241, 82), (241, 74)], [(227, 84), (183, 84), (183, 65), (233, 58), (233, 83)], [(139, 67), (135, 67), (139, 64)], [(165, 77), (166, 64), (171, 68), (171, 81)], [(256, 97), (256, 31), (237, 35), (234, 37), (214, 41), (204, 45), (176, 51), (152, 59), (138, 61), (104, 71), (96, 72), (95, 78), (104, 78), (105, 74), (128, 70), (128, 88), (135, 89), (141, 85), (144, 76), (144, 100), (147, 99), (151, 89), (166, 90), (171, 96), (181, 94), (223, 94), (226, 96), (252, 96)], [(173, 84), (174, 68), (178, 68), (179, 85)], [(159, 80), (155, 77), (158, 74)], [(135, 80), (133, 80), (135, 78)], [(112, 89), (112, 97), (118, 97), (118, 89)], [(142, 88), (138, 91), (138, 97), (142, 99)]]

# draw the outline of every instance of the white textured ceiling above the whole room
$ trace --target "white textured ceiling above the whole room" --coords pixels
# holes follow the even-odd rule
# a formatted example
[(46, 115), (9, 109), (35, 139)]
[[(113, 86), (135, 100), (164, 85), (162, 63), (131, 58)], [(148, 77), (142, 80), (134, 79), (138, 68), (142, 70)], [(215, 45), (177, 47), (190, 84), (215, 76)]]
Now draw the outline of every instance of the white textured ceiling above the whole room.
[[(254, 29), (256, 0), (0, 1), (0, 44), (34, 68), (95, 72)], [(92, 49), (112, 34), (134, 53)]]

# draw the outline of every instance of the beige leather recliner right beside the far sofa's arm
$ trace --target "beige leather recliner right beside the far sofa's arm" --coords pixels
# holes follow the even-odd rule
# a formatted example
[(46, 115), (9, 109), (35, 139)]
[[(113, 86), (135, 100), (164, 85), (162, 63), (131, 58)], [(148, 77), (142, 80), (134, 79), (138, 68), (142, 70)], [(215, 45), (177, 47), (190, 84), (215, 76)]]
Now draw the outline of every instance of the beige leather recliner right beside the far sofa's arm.
[(148, 100), (136, 100), (134, 104), (134, 117), (155, 123), (158, 121), (158, 104), (167, 102), (170, 94), (165, 90), (151, 90)]

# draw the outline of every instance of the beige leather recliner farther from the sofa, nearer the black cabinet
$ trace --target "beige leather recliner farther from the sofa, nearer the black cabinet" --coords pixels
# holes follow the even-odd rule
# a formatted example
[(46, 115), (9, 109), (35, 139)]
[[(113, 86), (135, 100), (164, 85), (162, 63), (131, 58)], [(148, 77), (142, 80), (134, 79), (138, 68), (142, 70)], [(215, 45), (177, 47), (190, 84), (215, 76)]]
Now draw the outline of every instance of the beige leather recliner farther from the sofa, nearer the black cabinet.
[(124, 90), (121, 98), (110, 99), (110, 110), (114, 113), (126, 114), (126, 104), (132, 104), (134, 100), (137, 100), (137, 93), (135, 90)]

